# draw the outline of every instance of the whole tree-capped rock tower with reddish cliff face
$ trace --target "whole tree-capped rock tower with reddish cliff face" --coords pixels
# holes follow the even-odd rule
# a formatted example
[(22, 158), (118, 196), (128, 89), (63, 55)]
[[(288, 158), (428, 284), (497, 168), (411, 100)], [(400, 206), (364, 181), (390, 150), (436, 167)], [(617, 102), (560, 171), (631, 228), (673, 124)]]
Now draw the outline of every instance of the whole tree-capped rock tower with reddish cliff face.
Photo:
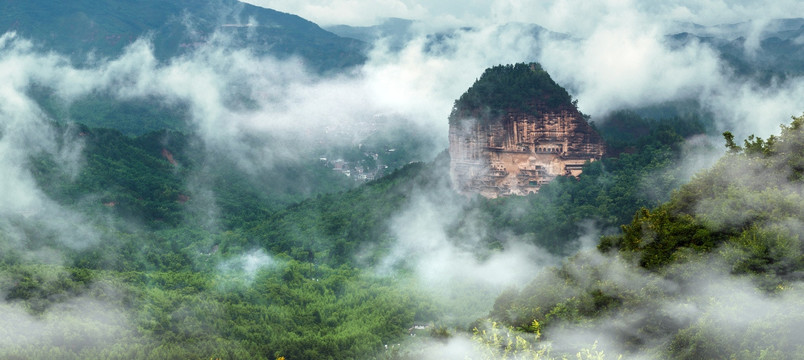
[(486, 70), (455, 102), (449, 142), (455, 188), (490, 198), (578, 176), (605, 151), (566, 90), (538, 64)]

